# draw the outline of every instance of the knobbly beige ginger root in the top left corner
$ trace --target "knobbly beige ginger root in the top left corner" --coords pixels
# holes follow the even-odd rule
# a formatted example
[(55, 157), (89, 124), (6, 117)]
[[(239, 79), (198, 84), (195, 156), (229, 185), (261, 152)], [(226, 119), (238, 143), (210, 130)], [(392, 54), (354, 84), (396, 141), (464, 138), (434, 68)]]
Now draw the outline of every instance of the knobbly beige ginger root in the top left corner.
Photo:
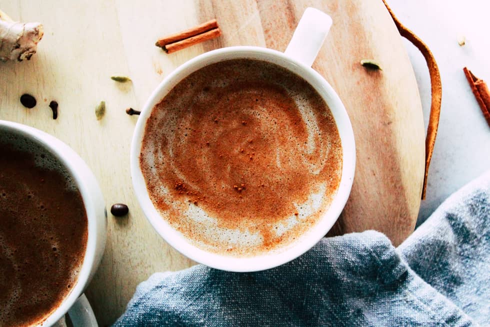
[(41, 24), (14, 22), (0, 10), (0, 60), (29, 60), (43, 34)]

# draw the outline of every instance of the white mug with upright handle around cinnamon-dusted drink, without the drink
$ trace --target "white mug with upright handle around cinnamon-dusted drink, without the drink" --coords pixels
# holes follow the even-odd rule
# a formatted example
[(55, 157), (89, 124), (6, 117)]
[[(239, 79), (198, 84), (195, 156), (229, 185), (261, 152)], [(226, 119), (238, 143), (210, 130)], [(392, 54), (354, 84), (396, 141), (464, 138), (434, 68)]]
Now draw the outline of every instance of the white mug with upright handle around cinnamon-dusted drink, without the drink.
[[(228, 47), (213, 50), (184, 63), (168, 75), (151, 94), (136, 123), (131, 143), (131, 178), (134, 192), (146, 218), (155, 230), (180, 253), (207, 266), (228, 271), (257, 271), (288, 262), (313, 247), (333, 226), (350, 193), (354, 178), (355, 144), (347, 112), (331, 86), (311, 68), (331, 26), (331, 18), (313, 8), (304, 12), (284, 53), (259, 47)], [(172, 228), (151, 202), (139, 166), (142, 138), (146, 121), (153, 107), (181, 80), (207, 65), (229, 59), (256, 59), (279, 65), (302, 77), (321, 95), (330, 108), (342, 145), (342, 172), (337, 192), (329, 209), (318, 223), (303, 233), (286, 251), (270, 252), (252, 257), (233, 257), (204, 251)]]

